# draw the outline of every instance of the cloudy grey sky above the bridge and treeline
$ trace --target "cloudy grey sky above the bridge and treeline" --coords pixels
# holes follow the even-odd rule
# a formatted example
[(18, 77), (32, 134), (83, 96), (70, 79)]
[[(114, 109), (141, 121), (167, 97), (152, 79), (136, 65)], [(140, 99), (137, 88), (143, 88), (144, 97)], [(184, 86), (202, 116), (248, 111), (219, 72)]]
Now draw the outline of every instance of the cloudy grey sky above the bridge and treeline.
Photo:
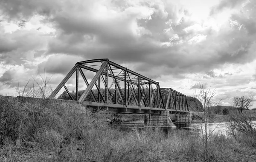
[(100, 58), (188, 96), (201, 83), (224, 106), (244, 95), (256, 107), (256, 1), (0, 0), (0, 94), (44, 71), (57, 87), (76, 62)]

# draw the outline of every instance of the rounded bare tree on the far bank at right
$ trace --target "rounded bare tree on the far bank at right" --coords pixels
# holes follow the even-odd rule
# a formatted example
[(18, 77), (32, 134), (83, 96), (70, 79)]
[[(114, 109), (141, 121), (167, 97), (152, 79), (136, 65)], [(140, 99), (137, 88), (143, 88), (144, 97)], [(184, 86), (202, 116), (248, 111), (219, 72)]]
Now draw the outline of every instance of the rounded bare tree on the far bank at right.
[(242, 113), (245, 109), (250, 108), (250, 106), (252, 106), (251, 102), (252, 100), (250, 98), (244, 96), (237, 96), (233, 98), (233, 106), (236, 107), (239, 113)]

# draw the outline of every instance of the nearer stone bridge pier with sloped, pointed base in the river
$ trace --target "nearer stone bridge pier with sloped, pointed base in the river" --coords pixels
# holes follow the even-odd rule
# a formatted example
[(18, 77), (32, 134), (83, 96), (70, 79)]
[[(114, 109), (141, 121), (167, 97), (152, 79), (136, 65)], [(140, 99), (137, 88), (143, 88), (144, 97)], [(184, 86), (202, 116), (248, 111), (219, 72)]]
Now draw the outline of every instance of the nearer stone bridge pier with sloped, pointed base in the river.
[(160, 114), (149, 114), (145, 115), (144, 118), (145, 126), (156, 126), (165, 128), (175, 128), (176, 126), (170, 119), (169, 111), (161, 111)]

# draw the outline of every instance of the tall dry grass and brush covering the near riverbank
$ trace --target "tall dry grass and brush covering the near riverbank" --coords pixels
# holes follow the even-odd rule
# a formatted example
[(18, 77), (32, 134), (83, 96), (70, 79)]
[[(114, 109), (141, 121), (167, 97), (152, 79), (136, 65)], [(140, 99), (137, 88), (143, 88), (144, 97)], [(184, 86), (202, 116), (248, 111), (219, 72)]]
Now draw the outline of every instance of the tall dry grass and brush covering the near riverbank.
[[(244, 138), (209, 138), (204, 157), (200, 134), (160, 128), (121, 131), (108, 126), (110, 114), (81, 113), (76, 105), (0, 101), (0, 161), (159, 162), (254, 161)], [(125, 116), (126, 117), (126, 116)]]

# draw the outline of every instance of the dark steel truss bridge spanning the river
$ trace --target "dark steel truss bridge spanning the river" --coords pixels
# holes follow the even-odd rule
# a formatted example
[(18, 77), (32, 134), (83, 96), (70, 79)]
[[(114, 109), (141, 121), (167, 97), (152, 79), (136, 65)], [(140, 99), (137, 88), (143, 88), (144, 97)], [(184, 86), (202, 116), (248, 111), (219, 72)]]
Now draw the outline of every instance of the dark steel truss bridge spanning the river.
[[(65, 85), (74, 73), (76, 73), (75, 98)], [(86, 86), (81, 96), (79, 96), (79, 84), (81, 84), (79, 78), (82, 78)], [(160, 88), (158, 82), (108, 59), (77, 62), (49, 98), (54, 98), (62, 87), (71, 100), (86, 106), (101, 107), (113, 113), (189, 112), (186, 95), (172, 88)]]

